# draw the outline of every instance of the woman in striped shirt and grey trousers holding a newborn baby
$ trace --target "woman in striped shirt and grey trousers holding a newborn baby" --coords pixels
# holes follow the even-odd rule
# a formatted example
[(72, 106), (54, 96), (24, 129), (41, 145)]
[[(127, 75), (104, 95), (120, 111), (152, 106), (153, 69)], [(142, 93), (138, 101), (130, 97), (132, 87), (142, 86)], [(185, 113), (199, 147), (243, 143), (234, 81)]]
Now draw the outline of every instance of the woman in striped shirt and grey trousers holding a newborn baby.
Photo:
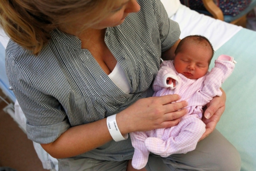
[[(172, 127), (186, 114), (187, 102), (171, 104), (178, 95), (151, 97), (160, 58), (173, 58), (180, 35), (160, 1), (3, 0), (0, 6), (11, 37), (7, 75), (28, 137), (59, 160), (59, 170), (131, 170), (127, 134)], [(239, 170), (236, 149), (213, 131), (223, 94), (206, 109), (202, 139), (210, 136), (191, 153), (150, 155), (147, 170)]]

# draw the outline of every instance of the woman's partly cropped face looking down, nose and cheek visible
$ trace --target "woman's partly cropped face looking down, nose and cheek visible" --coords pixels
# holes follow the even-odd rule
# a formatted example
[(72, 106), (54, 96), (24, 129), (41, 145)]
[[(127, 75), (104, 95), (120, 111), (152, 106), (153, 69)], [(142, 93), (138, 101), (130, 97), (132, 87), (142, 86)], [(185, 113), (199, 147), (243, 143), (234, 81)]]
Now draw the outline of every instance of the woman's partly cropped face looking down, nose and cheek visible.
[(94, 24), (90, 28), (94, 29), (104, 29), (107, 27), (114, 27), (122, 24), (125, 17), (132, 12), (138, 12), (140, 10), (140, 5), (137, 0), (120, 0), (121, 3), (112, 9), (109, 16), (106, 17), (101, 22)]

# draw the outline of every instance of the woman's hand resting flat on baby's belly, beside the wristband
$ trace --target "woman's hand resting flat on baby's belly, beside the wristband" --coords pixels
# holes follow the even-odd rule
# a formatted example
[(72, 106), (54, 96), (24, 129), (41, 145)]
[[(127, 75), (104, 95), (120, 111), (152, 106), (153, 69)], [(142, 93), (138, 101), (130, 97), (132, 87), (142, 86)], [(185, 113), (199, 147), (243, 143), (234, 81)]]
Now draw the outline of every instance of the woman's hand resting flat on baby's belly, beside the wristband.
[(116, 116), (121, 133), (148, 131), (177, 125), (180, 117), (187, 113), (187, 109), (179, 109), (188, 105), (186, 101), (172, 103), (179, 99), (179, 95), (173, 94), (136, 101)]

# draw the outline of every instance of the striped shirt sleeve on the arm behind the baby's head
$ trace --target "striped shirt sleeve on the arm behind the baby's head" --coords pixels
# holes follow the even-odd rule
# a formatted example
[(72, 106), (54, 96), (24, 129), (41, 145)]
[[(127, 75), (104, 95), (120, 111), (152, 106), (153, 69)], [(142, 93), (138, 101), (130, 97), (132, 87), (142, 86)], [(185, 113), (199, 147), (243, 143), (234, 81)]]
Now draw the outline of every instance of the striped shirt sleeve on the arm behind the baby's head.
[(160, 32), (161, 48), (164, 52), (180, 38), (180, 27), (177, 22), (168, 18), (165, 7), (160, 0), (155, 0), (155, 15)]

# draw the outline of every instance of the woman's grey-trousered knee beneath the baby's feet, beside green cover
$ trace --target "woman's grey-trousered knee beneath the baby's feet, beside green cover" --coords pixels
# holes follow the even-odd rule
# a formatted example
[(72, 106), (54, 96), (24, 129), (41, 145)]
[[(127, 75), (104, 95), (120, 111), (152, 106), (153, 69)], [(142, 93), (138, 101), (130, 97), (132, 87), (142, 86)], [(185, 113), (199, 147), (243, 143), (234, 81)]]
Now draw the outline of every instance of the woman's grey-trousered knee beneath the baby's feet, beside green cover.
[(217, 130), (199, 141), (195, 150), (171, 157), (188, 170), (240, 171), (241, 167), (237, 149)]

